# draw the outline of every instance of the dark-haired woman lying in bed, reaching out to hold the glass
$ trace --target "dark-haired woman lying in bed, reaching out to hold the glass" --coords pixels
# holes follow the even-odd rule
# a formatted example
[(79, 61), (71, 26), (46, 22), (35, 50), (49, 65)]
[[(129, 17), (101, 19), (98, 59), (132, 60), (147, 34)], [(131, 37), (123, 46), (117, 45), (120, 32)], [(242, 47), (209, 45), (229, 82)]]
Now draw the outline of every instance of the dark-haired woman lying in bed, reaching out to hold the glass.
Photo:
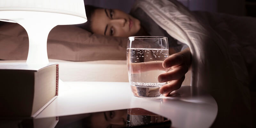
[(172, 68), (172, 70), (158, 76), (159, 82), (169, 82), (160, 88), (160, 93), (167, 96), (172, 91), (180, 88), (191, 63), (191, 53), (187, 45), (173, 39), (142, 10), (137, 10), (135, 14), (129, 15), (116, 9), (104, 9), (86, 5), (85, 11), (88, 21), (78, 26), (93, 33), (116, 37), (168, 37), (169, 54), (172, 55), (164, 60), (160, 66), (161, 68)]

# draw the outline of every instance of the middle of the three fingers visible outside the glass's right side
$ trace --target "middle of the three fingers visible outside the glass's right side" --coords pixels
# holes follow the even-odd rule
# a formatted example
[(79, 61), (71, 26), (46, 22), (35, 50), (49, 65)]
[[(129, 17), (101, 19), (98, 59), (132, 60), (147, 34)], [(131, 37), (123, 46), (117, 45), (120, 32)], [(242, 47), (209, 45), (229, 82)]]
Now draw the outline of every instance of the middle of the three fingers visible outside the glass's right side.
[(158, 82), (168, 82), (178, 80), (188, 72), (188, 67), (184, 64), (173, 68), (173, 70), (158, 76)]

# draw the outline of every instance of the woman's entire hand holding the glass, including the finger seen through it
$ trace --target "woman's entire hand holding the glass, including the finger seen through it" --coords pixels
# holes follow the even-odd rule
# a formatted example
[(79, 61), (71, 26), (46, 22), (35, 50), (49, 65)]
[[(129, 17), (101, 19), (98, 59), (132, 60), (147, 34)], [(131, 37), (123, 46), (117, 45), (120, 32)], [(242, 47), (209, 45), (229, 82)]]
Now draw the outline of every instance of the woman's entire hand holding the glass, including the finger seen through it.
[(159, 82), (168, 82), (160, 88), (160, 93), (164, 96), (169, 95), (172, 91), (180, 88), (185, 79), (185, 74), (191, 65), (190, 49), (186, 48), (179, 53), (172, 54), (164, 61), (148, 61), (140, 63), (127, 63), (127, 67), (132, 67), (129, 72), (138, 74), (147, 71), (162, 70), (163, 73), (158, 76)]

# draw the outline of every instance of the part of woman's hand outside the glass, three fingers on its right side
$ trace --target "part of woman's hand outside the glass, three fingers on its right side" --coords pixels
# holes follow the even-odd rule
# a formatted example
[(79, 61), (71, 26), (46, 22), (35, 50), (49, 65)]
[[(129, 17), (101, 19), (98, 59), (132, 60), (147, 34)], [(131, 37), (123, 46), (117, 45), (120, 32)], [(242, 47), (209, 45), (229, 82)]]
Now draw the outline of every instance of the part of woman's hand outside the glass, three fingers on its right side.
[[(168, 69), (166, 73), (158, 76), (159, 82), (168, 82), (160, 88), (160, 93), (164, 96), (180, 88), (185, 79), (185, 74), (191, 65), (190, 49), (186, 48), (179, 53), (172, 54), (163, 61), (163, 68)], [(172, 69), (172, 70), (170, 70)]]

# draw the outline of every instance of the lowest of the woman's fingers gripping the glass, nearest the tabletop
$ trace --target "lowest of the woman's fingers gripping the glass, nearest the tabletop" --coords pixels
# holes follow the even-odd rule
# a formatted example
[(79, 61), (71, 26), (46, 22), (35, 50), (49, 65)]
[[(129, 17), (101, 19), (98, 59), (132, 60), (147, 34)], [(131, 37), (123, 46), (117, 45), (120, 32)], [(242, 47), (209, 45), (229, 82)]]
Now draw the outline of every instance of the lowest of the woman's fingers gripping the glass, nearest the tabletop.
[(172, 91), (177, 90), (177, 89), (180, 88), (184, 79), (185, 79), (185, 75), (182, 78), (178, 79), (178, 80), (174, 80), (174, 81), (171, 81), (168, 84), (165, 84), (164, 86), (162, 86), (160, 88), (160, 90), (159, 90), (160, 93), (164, 94), (164, 96), (169, 95)]

